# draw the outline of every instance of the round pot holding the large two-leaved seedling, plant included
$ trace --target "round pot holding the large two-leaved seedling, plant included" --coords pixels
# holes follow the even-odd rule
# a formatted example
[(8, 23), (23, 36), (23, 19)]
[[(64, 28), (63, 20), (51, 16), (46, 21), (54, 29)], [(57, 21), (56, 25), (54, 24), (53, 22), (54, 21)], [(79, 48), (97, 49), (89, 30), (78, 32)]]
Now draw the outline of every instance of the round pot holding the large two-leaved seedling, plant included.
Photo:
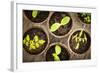
[(72, 18), (66, 12), (54, 12), (49, 19), (49, 29), (52, 35), (64, 37), (72, 27)]

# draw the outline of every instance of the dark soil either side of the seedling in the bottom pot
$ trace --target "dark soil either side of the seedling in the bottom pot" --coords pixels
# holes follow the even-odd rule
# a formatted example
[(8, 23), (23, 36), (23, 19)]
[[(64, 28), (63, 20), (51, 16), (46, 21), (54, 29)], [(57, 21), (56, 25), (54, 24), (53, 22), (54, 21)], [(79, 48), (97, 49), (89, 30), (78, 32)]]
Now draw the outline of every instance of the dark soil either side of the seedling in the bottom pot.
[[(54, 61), (54, 57), (52, 56), (52, 54), (55, 53), (55, 45), (51, 46), (47, 53), (46, 53), (46, 61)], [(58, 55), (60, 60), (69, 60), (69, 53), (67, 52), (67, 50), (61, 46), (61, 53)]]

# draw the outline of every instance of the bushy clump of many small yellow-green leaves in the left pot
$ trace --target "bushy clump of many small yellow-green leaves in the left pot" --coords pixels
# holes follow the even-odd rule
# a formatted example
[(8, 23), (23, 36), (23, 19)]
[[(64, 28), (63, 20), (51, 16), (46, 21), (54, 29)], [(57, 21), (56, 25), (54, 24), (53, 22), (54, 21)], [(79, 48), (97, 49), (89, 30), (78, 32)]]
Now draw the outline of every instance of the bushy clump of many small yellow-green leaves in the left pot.
[(37, 49), (45, 43), (45, 40), (39, 39), (37, 35), (33, 37), (33, 40), (30, 40), (29, 35), (27, 35), (24, 40), (23, 44), (29, 47), (29, 50)]

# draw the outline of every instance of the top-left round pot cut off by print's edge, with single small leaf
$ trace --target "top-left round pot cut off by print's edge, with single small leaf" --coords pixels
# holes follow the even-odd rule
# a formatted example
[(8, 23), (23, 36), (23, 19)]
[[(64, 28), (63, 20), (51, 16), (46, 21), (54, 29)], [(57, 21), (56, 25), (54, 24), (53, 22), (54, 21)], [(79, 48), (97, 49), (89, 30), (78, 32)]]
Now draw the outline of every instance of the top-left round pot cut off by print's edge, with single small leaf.
[(43, 22), (49, 16), (48, 11), (24, 10), (24, 13), (29, 20), (35, 23)]

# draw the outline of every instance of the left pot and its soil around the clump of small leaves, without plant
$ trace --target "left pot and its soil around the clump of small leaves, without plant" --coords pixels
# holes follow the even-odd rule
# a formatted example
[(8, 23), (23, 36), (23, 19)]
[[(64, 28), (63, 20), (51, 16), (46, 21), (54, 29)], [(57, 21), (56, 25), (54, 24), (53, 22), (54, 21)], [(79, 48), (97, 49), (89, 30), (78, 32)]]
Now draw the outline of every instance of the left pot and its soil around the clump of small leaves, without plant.
[(29, 34), (31, 40), (33, 39), (35, 35), (38, 35), (40, 39), (45, 40), (45, 43), (41, 45), (39, 48), (34, 49), (34, 50), (33, 49), (29, 50), (29, 46), (26, 46), (25, 44), (23, 44), (23, 48), (25, 49), (25, 51), (31, 55), (41, 54), (41, 52), (43, 52), (49, 44), (48, 34), (42, 28), (37, 27), (37, 26), (34, 26), (33, 28), (30, 28), (29, 30), (27, 30), (23, 34), (23, 40), (27, 36), (27, 34)]

